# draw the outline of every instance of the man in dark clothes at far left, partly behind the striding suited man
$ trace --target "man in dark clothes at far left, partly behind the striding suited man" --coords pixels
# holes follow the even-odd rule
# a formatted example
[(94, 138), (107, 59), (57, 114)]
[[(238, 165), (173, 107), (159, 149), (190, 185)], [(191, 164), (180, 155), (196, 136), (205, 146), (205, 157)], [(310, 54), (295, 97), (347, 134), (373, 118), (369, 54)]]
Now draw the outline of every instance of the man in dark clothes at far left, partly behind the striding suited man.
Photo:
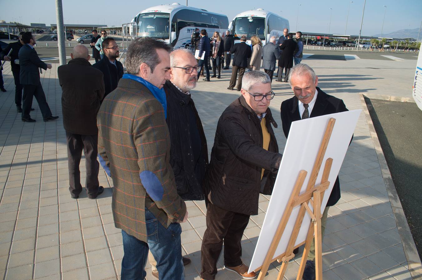
[[(19, 50), (22, 48), (24, 43), (22, 42), (22, 34), (25, 32), (19, 33), (19, 41), (13, 42), (7, 45), (7, 47), (1, 51), (0, 57), (2, 60), (10, 61), (10, 66), (12, 68), (12, 74), (13, 78), (15, 80), (15, 104), (16, 109), (18, 110), (18, 113), (22, 113), (22, 85), (19, 80), (19, 72), (21, 71), (21, 68), (19, 64), (15, 63), (16, 59), (19, 59)], [(9, 51), (12, 50), (9, 56)]]

